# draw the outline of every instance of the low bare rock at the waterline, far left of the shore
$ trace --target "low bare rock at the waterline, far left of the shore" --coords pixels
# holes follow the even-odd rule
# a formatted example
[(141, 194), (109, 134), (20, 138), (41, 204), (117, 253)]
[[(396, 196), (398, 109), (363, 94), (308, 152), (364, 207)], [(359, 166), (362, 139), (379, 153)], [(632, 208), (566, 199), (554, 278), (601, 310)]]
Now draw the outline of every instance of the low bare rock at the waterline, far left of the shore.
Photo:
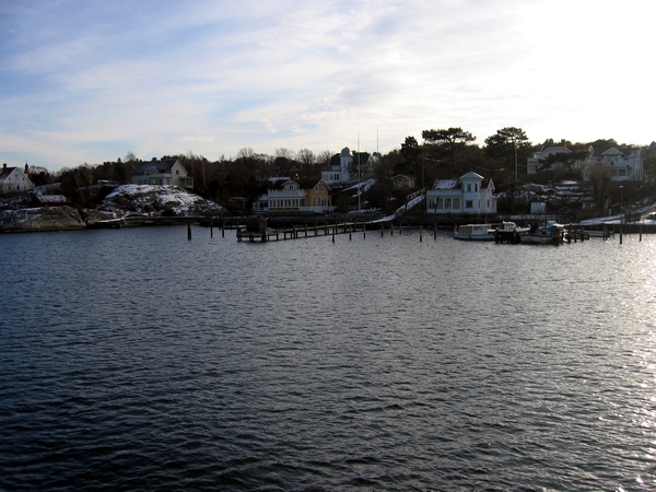
[(0, 232), (70, 231), (85, 226), (80, 212), (72, 207), (31, 208), (0, 212)]

